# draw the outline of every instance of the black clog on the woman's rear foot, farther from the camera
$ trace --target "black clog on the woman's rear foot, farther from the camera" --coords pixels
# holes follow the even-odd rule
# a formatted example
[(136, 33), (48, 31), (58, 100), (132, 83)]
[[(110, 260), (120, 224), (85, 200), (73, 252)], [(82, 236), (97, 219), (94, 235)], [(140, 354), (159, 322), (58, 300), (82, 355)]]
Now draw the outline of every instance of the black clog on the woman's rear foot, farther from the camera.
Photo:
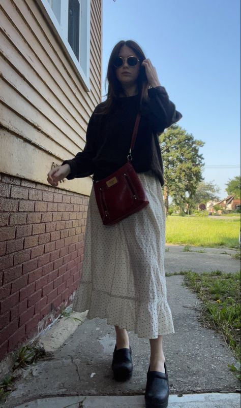
[(129, 349), (116, 350), (115, 345), (111, 368), (116, 381), (126, 381), (131, 378), (133, 371), (131, 353), (131, 347)]

